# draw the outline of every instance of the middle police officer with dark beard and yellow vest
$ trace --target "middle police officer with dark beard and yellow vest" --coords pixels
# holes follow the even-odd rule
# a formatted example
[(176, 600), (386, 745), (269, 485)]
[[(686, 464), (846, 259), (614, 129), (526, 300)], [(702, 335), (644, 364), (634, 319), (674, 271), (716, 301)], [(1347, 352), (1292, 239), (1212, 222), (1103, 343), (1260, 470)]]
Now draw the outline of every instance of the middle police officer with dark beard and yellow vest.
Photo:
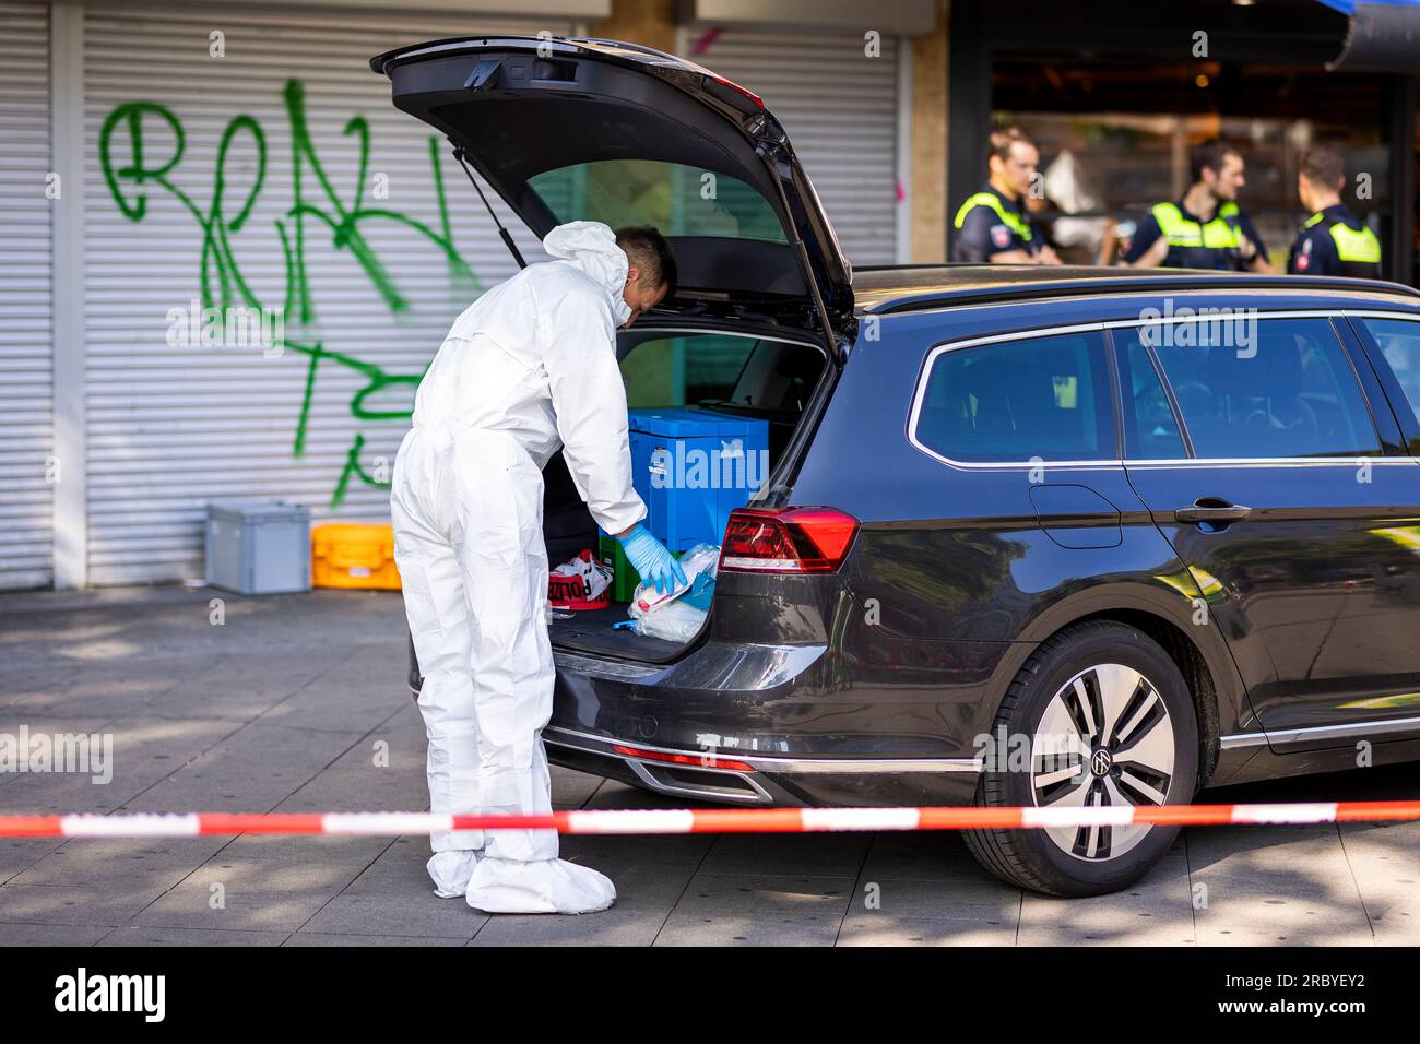
[(1221, 268), (1271, 273), (1262, 237), (1238, 209), (1242, 156), (1217, 138), (1189, 153), (1193, 185), (1176, 203), (1156, 203), (1120, 259), (1137, 268)]

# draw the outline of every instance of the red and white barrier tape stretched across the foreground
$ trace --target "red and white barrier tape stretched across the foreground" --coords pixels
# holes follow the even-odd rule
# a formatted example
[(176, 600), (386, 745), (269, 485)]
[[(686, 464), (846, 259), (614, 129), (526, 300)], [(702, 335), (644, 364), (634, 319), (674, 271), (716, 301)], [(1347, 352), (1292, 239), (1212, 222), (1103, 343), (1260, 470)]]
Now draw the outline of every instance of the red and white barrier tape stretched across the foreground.
[(1420, 820), (1420, 801), (1318, 801), (1267, 805), (1091, 805), (1075, 808), (704, 808), (598, 810), (551, 815), (435, 812), (125, 812), (0, 815), (0, 837), (179, 838), (207, 834), (398, 837), (450, 830), (555, 830), (559, 834), (814, 834), (1160, 824), (1373, 822)]

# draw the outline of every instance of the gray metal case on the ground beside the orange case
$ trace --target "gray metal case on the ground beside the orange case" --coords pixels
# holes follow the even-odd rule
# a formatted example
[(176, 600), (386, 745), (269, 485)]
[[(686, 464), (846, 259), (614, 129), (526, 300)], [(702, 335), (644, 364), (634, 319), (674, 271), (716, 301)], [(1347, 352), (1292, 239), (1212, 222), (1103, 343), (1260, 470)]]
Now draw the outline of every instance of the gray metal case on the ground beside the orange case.
[(207, 584), (244, 595), (310, 591), (310, 509), (281, 500), (210, 501)]

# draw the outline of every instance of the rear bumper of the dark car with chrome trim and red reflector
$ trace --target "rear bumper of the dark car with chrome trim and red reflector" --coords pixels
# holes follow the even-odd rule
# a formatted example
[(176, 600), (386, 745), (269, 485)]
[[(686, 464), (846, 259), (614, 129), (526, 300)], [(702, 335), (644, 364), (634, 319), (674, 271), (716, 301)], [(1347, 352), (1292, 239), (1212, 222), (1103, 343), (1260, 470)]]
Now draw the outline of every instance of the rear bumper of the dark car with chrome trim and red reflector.
[(656, 666), (554, 651), (548, 760), (690, 801), (971, 801), (974, 757), (892, 750), (897, 740), (832, 727), (845, 713), (862, 713), (862, 696), (825, 693), (825, 658), (816, 645), (709, 643)]

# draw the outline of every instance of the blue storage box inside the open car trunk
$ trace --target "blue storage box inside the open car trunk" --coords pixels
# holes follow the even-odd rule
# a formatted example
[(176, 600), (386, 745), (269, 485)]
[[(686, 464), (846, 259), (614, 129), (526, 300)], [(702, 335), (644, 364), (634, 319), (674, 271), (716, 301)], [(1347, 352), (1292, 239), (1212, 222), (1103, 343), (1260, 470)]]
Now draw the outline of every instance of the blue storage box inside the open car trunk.
[(770, 425), (696, 406), (629, 410), (632, 483), (670, 551), (720, 544), (730, 511), (764, 484)]

